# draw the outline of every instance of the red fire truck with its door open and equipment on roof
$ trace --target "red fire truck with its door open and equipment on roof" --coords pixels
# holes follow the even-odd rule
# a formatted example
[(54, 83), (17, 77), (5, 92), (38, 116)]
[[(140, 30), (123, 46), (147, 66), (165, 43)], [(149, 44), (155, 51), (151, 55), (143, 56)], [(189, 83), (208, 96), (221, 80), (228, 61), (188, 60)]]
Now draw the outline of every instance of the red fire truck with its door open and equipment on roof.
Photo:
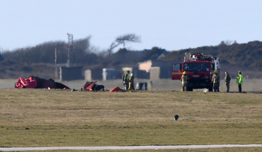
[(185, 53), (183, 63), (172, 64), (172, 80), (180, 80), (182, 73), (186, 71), (188, 77), (187, 91), (193, 89), (213, 90), (211, 83), (214, 71), (217, 70), (219, 75), (219, 58), (212, 55), (196, 53)]

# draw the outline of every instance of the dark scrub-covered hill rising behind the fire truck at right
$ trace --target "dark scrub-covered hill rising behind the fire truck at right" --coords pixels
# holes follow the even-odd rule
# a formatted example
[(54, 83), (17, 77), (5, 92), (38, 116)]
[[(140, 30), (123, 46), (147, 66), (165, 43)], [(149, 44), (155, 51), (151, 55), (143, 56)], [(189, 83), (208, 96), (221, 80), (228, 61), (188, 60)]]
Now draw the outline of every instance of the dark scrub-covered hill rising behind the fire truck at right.
[(234, 77), (237, 71), (246, 71), (244, 75), (250, 78), (261, 78), (262, 71), (262, 42), (252, 41), (249, 43), (233, 43), (226, 45), (223, 41), (217, 46), (203, 46), (197, 48), (189, 48), (184, 50), (173, 51), (162, 57), (165, 61), (183, 62), (185, 52), (203, 53), (218, 56), (220, 59), (220, 68), (229, 71)]

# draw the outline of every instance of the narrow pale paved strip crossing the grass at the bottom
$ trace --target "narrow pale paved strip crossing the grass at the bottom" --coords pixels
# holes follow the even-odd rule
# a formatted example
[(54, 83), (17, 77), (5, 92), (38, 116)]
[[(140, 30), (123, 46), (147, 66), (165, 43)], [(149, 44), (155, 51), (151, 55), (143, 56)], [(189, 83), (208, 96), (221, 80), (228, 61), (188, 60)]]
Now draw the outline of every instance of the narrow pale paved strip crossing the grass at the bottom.
[(224, 145), (177, 145), (177, 146), (95, 146), (95, 147), (10, 147), (0, 151), (37, 151), (37, 150), (135, 150), (135, 149), (194, 149), (221, 147), (262, 147), (262, 144), (224, 144)]

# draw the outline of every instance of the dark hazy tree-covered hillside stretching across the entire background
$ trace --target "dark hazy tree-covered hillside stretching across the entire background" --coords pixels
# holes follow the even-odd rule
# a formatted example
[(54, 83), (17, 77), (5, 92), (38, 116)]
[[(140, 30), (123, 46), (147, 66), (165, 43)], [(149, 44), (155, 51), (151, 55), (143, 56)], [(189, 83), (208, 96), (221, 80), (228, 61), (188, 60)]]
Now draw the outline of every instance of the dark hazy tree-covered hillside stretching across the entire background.
[[(56, 63), (65, 65), (68, 51), (65, 42), (47, 42), (34, 47), (20, 48), (12, 52), (0, 54), (0, 79), (16, 79), (19, 76), (39, 76), (54, 79), (55, 48), (57, 50)], [(249, 78), (262, 77), (262, 42), (225, 44), (223, 41), (217, 46), (203, 46), (168, 52), (159, 47), (141, 51), (119, 49), (115, 53), (107, 50), (95, 52), (91, 50), (89, 38), (74, 41), (70, 51), (70, 63), (73, 66), (83, 66), (84, 69), (102, 69), (122, 67), (137, 67), (139, 62), (147, 60), (163, 60), (183, 62), (185, 52), (204, 53), (218, 56), (222, 71), (229, 71), (233, 78), (237, 71), (245, 71)], [(167, 65), (167, 67), (171, 65)]]

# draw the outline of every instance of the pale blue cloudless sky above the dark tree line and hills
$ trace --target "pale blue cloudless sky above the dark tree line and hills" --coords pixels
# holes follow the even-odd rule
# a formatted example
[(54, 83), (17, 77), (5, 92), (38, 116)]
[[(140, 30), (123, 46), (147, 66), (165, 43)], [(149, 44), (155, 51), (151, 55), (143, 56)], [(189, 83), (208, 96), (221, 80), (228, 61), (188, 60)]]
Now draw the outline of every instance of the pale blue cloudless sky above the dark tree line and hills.
[(100, 50), (129, 33), (141, 36), (130, 50), (261, 41), (261, 8), (262, 0), (0, 0), (0, 47), (67, 42), (67, 33), (91, 36)]

